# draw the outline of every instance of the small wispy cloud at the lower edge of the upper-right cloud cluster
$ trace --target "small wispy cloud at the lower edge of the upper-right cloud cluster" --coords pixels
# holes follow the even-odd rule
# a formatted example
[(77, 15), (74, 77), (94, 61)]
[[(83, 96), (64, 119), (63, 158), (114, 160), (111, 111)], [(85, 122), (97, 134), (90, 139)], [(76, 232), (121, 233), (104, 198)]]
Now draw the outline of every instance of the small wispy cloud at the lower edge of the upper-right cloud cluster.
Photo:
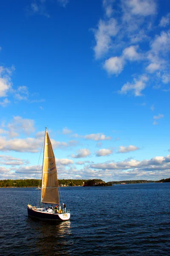
[(139, 79), (133, 79), (133, 82), (130, 84), (127, 82), (123, 85), (119, 93), (127, 94), (128, 91), (132, 91), (135, 96), (142, 96), (142, 90), (146, 87), (146, 82), (148, 81), (148, 77), (146, 75), (142, 75)]

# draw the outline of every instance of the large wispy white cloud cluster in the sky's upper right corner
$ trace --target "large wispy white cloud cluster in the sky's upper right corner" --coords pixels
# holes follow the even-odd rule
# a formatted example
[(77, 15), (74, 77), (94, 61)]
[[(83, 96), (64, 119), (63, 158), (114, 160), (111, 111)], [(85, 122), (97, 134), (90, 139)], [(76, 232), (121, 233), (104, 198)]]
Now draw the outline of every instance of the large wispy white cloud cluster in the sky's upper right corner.
[[(93, 29), (96, 58), (105, 58), (102, 67), (109, 75), (118, 76), (125, 65), (132, 61), (138, 61), (137, 64), (142, 70), (138, 76), (135, 74), (136, 78), (132, 83), (127, 81), (118, 92), (131, 92), (135, 96), (142, 96), (142, 90), (151, 79), (159, 79), (164, 84), (169, 83), (170, 65), (167, 54), (170, 50), (170, 30), (153, 34), (152, 38), (149, 35), (155, 27), (153, 15), (157, 14), (156, 1), (120, 0), (115, 3), (103, 0), (103, 8), (103, 20), (100, 19), (97, 29)], [(162, 17), (159, 28), (165, 28), (169, 23), (170, 14)], [(144, 42), (148, 47), (142, 49), (139, 42)], [(147, 73), (152, 75), (149, 76)], [(132, 75), (134, 76), (133, 73)]]

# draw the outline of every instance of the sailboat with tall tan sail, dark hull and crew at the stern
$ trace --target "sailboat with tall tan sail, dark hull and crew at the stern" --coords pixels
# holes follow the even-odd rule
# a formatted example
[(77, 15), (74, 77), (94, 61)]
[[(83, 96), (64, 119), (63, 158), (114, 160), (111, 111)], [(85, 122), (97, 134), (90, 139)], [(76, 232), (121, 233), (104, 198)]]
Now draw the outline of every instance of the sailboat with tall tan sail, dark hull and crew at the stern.
[[(43, 207), (44, 204), (45, 206)], [(47, 128), (45, 128), (40, 207), (35, 207), (28, 204), (28, 216), (48, 221), (69, 220), (69, 211), (64, 212), (60, 209), (60, 207), (59, 211), (55, 211), (52, 206), (48, 207), (48, 204), (60, 206), (55, 156), (50, 138), (48, 136)]]

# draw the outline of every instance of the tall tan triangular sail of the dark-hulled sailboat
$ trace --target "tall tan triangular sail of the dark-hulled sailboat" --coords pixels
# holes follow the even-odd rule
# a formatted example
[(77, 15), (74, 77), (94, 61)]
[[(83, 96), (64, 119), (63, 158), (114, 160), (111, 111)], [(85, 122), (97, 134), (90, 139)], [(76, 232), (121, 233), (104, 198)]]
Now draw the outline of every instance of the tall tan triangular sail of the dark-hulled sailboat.
[(59, 204), (57, 168), (48, 132), (45, 132), (41, 203)]

